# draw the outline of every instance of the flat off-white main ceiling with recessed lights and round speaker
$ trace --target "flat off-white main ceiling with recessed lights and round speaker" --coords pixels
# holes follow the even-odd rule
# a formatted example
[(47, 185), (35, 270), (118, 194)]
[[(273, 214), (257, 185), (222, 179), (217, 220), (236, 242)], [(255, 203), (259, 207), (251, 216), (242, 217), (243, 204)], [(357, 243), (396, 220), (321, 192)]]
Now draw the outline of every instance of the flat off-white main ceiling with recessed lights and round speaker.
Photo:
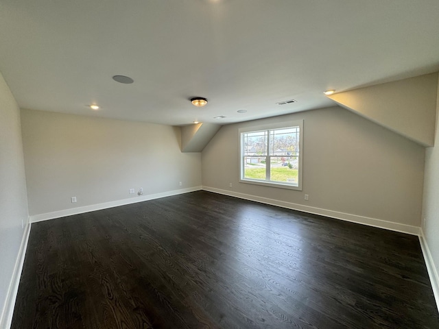
[(438, 17), (438, 0), (1, 0), (0, 71), (21, 108), (225, 124), (439, 71)]

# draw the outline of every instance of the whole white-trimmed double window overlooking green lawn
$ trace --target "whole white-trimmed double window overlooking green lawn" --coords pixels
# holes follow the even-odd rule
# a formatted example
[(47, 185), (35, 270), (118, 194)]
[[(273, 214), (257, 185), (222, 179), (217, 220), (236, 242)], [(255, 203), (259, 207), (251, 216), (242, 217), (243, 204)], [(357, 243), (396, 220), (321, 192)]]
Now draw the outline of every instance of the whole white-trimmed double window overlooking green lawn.
[(239, 182), (302, 190), (303, 121), (239, 130)]

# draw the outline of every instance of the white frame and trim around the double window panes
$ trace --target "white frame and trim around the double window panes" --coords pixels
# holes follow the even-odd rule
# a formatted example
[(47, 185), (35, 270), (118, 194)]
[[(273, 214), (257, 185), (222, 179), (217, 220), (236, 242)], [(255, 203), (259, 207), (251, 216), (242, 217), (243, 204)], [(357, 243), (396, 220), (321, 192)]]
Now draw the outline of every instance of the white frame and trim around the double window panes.
[[(261, 132), (265, 130), (277, 130), (288, 127), (299, 127), (299, 154), (298, 154), (298, 182), (297, 183), (283, 183), (274, 182), (271, 180), (250, 180), (244, 178), (244, 138), (243, 134), (246, 132)], [(268, 134), (270, 136), (270, 134)], [(270, 138), (270, 137), (268, 137)], [(268, 139), (270, 145), (270, 139)], [(267, 171), (270, 171), (270, 154), (265, 160)], [(265, 125), (257, 125), (252, 127), (243, 127), (239, 129), (239, 182), (247, 184), (257, 184), (263, 186), (271, 186), (277, 188), (287, 188), (290, 190), (302, 191), (302, 172), (303, 172), (303, 120), (286, 121), (281, 123), (269, 123)]]

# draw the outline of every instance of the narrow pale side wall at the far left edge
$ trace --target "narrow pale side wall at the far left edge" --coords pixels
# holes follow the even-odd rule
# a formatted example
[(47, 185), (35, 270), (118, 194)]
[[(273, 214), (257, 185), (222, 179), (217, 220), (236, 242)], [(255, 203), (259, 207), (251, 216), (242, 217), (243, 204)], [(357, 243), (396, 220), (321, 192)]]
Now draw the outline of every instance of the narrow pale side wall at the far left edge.
[(22, 221), (25, 225), (27, 218), (20, 110), (0, 74), (0, 328), (6, 326), (10, 307), (6, 299), (16, 279), (13, 274), (24, 234)]

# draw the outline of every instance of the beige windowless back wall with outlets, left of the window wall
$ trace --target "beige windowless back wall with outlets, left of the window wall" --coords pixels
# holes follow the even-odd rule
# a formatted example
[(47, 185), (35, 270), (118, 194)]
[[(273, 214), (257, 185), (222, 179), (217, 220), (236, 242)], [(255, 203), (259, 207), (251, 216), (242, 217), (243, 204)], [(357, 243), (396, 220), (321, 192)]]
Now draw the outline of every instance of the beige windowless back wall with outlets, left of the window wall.
[(36, 110), (21, 121), (30, 215), (201, 186), (201, 154), (181, 153), (180, 128)]

